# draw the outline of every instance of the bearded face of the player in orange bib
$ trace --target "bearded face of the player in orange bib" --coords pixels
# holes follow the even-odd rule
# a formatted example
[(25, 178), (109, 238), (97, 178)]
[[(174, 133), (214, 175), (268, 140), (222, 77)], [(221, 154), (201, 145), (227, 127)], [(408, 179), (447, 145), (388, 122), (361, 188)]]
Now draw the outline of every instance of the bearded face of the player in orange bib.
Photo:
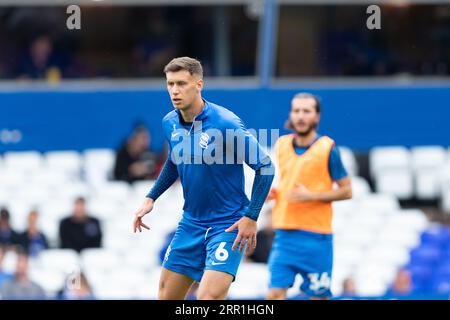
[(316, 111), (316, 101), (312, 98), (292, 100), (290, 119), (298, 135), (308, 135), (319, 124), (320, 114)]

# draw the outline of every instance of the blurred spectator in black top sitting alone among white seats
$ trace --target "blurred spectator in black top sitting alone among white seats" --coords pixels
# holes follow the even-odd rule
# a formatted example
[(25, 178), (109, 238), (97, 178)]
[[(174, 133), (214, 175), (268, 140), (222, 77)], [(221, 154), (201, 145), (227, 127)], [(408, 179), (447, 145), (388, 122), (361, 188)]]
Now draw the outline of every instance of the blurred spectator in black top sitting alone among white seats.
[(102, 230), (100, 222), (88, 215), (84, 198), (77, 198), (73, 214), (61, 221), (59, 239), (61, 248), (73, 249), (77, 252), (86, 248), (101, 247)]

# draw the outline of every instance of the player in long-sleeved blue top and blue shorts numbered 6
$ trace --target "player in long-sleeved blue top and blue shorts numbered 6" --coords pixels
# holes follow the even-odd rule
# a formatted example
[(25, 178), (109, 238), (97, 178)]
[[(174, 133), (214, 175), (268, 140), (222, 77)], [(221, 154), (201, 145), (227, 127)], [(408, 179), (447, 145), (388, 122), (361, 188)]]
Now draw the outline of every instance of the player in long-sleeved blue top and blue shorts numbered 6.
[[(158, 298), (184, 299), (197, 281), (198, 299), (224, 299), (234, 281), (242, 250), (246, 245), (247, 251), (256, 246), (256, 221), (269, 193), (274, 168), (239, 117), (202, 98), (203, 69), (199, 61), (176, 58), (164, 72), (175, 107), (162, 121), (169, 158), (135, 215), (134, 231), (148, 229), (142, 218), (180, 177), (184, 213), (166, 251)], [(220, 132), (222, 137), (226, 137), (225, 131), (232, 130), (247, 148), (235, 148), (234, 138), (213, 140), (208, 129)], [(182, 149), (180, 155), (175, 150), (186, 142), (189, 148)], [(215, 147), (225, 151), (219, 157), (221, 162), (206, 163), (205, 154)], [(257, 151), (256, 161), (251, 161), (252, 154), (246, 149)], [(229, 163), (227, 156), (242, 159), (255, 170), (251, 201), (245, 195), (243, 162)], [(200, 163), (195, 162), (198, 159)]]

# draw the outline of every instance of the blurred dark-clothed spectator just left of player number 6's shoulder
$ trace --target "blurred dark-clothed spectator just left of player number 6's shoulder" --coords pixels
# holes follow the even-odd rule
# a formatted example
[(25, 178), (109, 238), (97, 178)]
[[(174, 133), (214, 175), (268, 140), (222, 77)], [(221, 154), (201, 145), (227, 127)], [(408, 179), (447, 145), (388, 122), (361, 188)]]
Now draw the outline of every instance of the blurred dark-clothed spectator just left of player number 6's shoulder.
[(134, 182), (156, 179), (162, 168), (162, 157), (149, 150), (150, 132), (138, 126), (128, 137), (116, 155), (114, 177), (117, 180)]

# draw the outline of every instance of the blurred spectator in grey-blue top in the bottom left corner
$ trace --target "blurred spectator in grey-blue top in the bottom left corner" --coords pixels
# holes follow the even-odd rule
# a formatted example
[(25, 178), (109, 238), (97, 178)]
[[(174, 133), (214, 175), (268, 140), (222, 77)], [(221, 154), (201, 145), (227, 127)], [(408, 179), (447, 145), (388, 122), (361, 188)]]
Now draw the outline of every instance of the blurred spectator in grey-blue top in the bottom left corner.
[(1, 287), (3, 299), (45, 299), (40, 285), (28, 278), (28, 256), (19, 252), (14, 278), (7, 280)]

